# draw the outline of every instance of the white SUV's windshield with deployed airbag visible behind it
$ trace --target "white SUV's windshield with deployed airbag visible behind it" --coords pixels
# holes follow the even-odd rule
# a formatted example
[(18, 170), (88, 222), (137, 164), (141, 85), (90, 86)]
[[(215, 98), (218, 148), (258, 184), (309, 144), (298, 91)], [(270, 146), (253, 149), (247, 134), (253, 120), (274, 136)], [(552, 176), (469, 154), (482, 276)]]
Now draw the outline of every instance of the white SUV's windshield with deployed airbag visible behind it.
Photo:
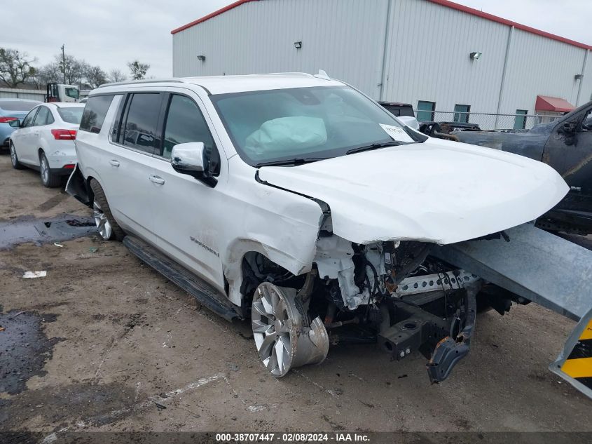
[(347, 86), (212, 95), (238, 154), (252, 166), (343, 156), (352, 148), (418, 141)]

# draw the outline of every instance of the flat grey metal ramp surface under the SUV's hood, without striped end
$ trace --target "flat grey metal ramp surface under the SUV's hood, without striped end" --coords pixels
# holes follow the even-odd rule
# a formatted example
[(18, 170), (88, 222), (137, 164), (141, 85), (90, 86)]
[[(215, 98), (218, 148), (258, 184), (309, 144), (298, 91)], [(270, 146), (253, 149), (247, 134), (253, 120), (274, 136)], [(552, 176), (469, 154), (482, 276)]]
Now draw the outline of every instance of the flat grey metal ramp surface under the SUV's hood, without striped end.
[(579, 321), (592, 307), (592, 251), (523, 224), (499, 239), (438, 246), (430, 254)]

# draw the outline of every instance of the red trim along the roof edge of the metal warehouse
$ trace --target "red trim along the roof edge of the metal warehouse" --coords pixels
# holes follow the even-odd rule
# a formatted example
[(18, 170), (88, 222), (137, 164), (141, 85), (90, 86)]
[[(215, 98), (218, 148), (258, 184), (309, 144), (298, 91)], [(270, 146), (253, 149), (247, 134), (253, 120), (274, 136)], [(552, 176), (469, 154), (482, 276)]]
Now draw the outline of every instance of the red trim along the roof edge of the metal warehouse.
[[(206, 20), (209, 20), (210, 18), (216, 17), (216, 15), (220, 15), (222, 13), (225, 13), (226, 11), (230, 11), (230, 9), (234, 9), (237, 6), (240, 6), (242, 4), (249, 3), (249, 1), (259, 1), (259, 0), (238, 0), (238, 1), (235, 1), (233, 4), (229, 4), (228, 6), (225, 6), (224, 8), (221, 8), (218, 11), (214, 11), (211, 14), (205, 15), (205, 17), (198, 18), (198, 20), (194, 20), (193, 22), (188, 23), (187, 25), (183, 25), (181, 27), (178, 27), (177, 29), (173, 29), (171, 31), (171, 34), (177, 34), (177, 32), (181, 32), (184, 29), (187, 29), (192, 26), (198, 25), (199, 23), (205, 22)], [(521, 29), (523, 31), (530, 32), (530, 33), (536, 34), (538, 36), (546, 37), (547, 39), (552, 39), (552, 40), (560, 41), (563, 43), (567, 43), (567, 44), (570, 44), (573, 46), (577, 46), (578, 48), (592, 50), (591, 45), (586, 45), (585, 43), (580, 43), (579, 41), (565, 39), (565, 37), (558, 36), (556, 34), (551, 34), (550, 32), (544, 32), (544, 31), (541, 31), (540, 29), (535, 29), (530, 26), (521, 25), (520, 23), (512, 22), (511, 20), (507, 20), (505, 18), (497, 17), (497, 15), (484, 13), (482, 11), (479, 11), (478, 9), (469, 8), (468, 6), (463, 6), (463, 5), (454, 3), (453, 1), (448, 1), (448, 0), (427, 0), (427, 1), (438, 4), (440, 6), (446, 6), (446, 8), (452, 8), (457, 11), (462, 11), (463, 13), (476, 15), (477, 17), (485, 18), (486, 20), (491, 20), (492, 22), (502, 23), (502, 25), (513, 26), (517, 29)]]

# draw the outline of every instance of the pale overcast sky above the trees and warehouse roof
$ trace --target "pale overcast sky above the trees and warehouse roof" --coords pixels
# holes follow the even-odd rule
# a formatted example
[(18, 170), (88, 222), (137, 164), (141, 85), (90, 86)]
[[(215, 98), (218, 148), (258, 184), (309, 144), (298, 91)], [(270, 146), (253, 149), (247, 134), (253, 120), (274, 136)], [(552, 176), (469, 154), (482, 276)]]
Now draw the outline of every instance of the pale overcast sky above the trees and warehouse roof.
[[(317, 0), (323, 1), (323, 0)], [(365, 0), (358, 0), (365, 1)], [(121, 69), (138, 59), (148, 75), (172, 75), (171, 30), (233, 3), (233, 0), (28, 0), (3, 7), (0, 47), (26, 51), (45, 65), (66, 53)], [(457, 0), (456, 3), (592, 45), (590, 0)]]

